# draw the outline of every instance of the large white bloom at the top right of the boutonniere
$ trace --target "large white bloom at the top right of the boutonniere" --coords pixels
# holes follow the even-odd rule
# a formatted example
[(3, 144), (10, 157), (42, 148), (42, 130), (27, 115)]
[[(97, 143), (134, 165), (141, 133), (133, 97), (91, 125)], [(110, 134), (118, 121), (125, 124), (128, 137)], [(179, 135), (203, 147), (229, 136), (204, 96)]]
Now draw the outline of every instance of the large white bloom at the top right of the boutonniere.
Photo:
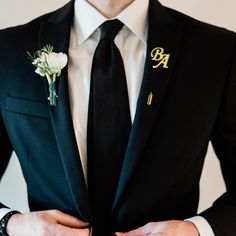
[(68, 61), (67, 55), (62, 52), (51, 52), (46, 54), (45, 58), (50, 70), (61, 70), (66, 66)]

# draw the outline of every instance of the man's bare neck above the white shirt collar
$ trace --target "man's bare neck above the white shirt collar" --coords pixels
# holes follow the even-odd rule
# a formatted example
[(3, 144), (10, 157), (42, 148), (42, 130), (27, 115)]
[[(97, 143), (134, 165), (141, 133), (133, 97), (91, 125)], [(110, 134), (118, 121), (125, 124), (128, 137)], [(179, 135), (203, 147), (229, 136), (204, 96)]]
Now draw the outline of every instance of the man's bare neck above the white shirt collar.
[(106, 18), (117, 16), (134, 0), (86, 0)]

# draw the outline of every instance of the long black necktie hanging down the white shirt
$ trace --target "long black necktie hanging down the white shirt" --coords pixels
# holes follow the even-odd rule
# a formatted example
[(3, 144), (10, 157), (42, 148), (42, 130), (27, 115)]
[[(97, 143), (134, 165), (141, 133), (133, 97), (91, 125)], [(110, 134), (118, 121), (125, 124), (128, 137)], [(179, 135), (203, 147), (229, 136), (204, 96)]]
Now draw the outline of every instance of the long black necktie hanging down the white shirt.
[(125, 70), (114, 38), (118, 20), (100, 26), (94, 53), (88, 115), (88, 184), (93, 235), (111, 232), (111, 208), (131, 129)]

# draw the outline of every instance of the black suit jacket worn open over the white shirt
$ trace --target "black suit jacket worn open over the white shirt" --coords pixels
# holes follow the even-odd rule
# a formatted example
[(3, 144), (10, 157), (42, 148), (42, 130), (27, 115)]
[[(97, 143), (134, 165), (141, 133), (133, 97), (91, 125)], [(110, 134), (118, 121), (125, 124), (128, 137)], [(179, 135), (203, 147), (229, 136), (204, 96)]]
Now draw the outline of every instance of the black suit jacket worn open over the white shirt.
[[(56, 208), (91, 223), (67, 68), (57, 83), (59, 104), (50, 107), (46, 79), (34, 72), (26, 53), (48, 43), (56, 52), (68, 53), (72, 20), (70, 2), (26, 25), (0, 31), (0, 173), (15, 150), (32, 211)], [(113, 203), (114, 231), (195, 215), (211, 140), (227, 192), (201, 215), (217, 236), (236, 235), (235, 46), (233, 32), (150, 0), (145, 70)], [(155, 47), (170, 54), (168, 68), (153, 68)], [(150, 92), (153, 100), (147, 105)]]

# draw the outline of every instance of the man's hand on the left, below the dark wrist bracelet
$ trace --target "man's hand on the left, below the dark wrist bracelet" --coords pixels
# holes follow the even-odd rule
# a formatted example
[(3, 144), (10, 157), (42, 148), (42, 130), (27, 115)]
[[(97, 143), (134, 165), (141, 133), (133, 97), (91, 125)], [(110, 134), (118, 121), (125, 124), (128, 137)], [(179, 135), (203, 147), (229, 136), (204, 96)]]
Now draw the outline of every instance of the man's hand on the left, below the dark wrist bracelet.
[(15, 214), (7, 224), (10, 236), (88, 236), (88, 223), (58, 210)]

